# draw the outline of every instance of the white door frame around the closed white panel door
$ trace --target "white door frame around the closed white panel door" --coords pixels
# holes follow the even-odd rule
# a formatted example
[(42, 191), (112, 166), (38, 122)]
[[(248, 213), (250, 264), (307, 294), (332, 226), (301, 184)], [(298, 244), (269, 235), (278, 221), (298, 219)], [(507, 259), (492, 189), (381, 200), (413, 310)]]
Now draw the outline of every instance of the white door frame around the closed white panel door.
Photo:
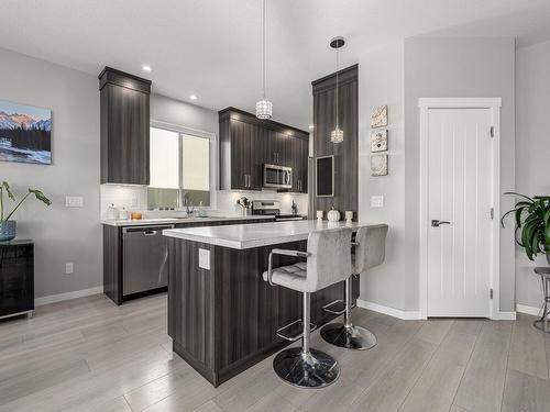
[[(420, 98), (420, 318), (428, 315), (428, 111), (429, 109), (490, 109), (493, 124), (493, 236), (490, 318), (498, 319), (501, 279), (501, 98)], [(491, 138), (487, 131), (487, 138)], [(488, 213), (490, 211), (487, 211)]]

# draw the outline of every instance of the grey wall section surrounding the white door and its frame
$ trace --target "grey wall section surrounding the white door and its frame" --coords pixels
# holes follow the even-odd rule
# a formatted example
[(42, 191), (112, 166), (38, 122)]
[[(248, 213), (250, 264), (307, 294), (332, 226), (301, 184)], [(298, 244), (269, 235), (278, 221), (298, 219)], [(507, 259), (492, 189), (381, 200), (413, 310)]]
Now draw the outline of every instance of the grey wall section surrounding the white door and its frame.
[[(515, 188), (515, 42), (513, 38), (405, 41), (405, 258), (410, 268), (405, 309), (418, 309), (419, 98), (502, 98), (501, 192)], [(502, 197), (502, 210), (513, 199)], [(501, 231), (501, 310), (514, 310), (513, 227)]]

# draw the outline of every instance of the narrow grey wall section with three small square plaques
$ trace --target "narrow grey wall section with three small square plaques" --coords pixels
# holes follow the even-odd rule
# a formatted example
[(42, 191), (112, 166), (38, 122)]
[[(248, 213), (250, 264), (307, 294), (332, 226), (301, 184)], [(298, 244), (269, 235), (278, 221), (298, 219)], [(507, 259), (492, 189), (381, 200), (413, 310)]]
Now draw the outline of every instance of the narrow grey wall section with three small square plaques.
[[(404, 44), (384, 45), (359, 56), (359, 219), (389, 225), (384, 265), (361, 276), (360, 299), (403, 310), (410, 274), (405, 263)], [(371, 123), (374, 107), (388, 107), (388, 176), (371, 176)], [(383, 196), (384, 208), (371, 208)]]

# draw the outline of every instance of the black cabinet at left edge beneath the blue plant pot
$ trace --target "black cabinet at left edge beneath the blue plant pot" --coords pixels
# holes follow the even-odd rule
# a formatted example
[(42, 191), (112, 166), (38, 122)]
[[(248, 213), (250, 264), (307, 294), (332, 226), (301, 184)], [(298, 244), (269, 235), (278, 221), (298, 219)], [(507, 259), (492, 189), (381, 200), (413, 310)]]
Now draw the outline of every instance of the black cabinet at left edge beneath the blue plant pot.
[(0, 318), (34, 310), (34, 243), (0, 243)]

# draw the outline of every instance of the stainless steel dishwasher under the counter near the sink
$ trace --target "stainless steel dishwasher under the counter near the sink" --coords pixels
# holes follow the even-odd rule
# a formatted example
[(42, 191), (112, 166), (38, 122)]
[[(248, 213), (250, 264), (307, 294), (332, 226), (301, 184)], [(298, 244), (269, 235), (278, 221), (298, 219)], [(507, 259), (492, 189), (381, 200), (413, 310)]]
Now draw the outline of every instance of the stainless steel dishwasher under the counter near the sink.
[(132, 226), (122, 230), (122, 294), (167, 286), (168, 244), (163, 230), (174, 225)]

